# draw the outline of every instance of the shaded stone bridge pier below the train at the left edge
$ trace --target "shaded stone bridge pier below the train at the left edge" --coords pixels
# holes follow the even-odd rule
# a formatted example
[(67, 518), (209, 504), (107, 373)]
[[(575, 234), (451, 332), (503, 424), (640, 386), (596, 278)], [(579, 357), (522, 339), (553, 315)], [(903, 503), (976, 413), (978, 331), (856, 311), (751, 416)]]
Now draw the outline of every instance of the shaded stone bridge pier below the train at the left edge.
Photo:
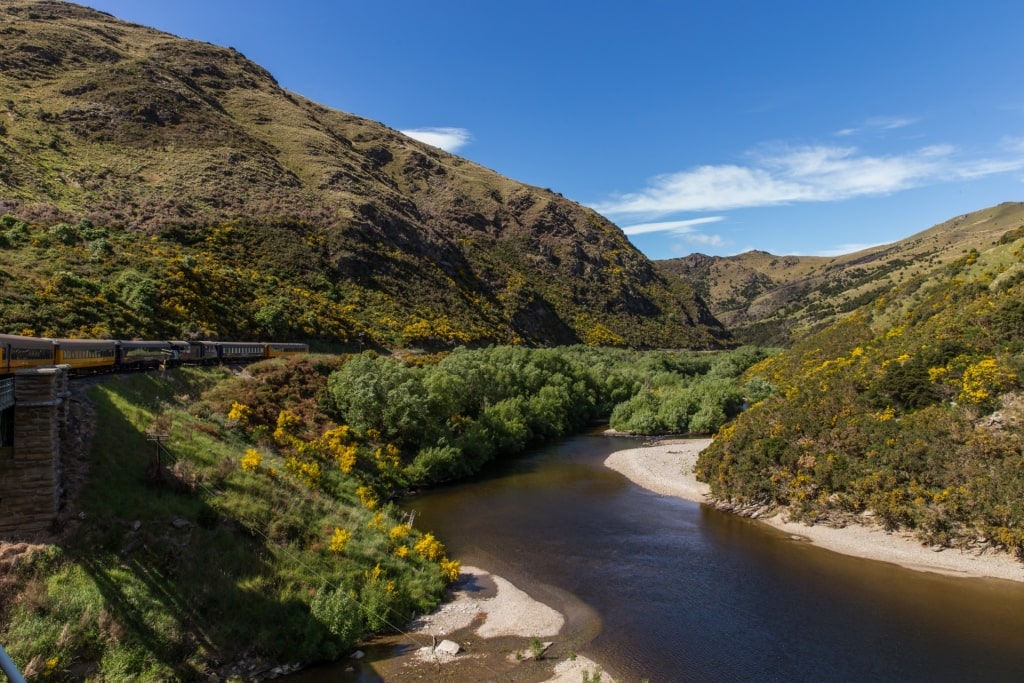
[(50, 531), (60, 505), (68, 367), (0, 378), (0, 538)]

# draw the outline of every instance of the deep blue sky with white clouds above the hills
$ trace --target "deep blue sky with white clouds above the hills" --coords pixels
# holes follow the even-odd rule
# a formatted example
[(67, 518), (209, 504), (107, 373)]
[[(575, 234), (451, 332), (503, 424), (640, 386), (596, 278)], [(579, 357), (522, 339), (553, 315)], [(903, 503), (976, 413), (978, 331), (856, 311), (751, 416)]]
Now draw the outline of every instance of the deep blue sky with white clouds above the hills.
[(594, 207), (655, 259), (1024, 201), (1017, 0), (86, 0)]

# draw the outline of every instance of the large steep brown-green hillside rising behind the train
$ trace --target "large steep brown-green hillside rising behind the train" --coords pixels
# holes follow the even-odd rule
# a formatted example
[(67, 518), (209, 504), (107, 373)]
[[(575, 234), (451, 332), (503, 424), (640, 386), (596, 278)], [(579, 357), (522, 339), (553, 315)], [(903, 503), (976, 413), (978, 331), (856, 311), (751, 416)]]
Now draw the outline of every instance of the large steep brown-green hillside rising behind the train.
[[(27, 0), (0, 35), (5, 332), (726, 338), (600, 215), (289, 92), (231, 48)], [(105, 309), (73, 314), (89, 301)], [(62, 305), (82, 319), (37, 312)]]

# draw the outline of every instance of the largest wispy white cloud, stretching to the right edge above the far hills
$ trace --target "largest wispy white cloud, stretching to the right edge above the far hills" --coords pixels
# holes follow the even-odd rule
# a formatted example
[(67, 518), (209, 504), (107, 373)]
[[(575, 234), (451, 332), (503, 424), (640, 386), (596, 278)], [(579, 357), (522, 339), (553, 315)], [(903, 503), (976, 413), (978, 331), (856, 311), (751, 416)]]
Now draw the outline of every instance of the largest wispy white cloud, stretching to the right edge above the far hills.
[(854, 146), (775, 147), (752, 153), (745, 165), (698, 166), (653, 178), (637, 193), (594, 208), (608, 215), (656, 218), (673, 213), (727, 211), (797, 202), (831, 202), (1024, 169), (1019, 140), (1001, 155), (964, 159), (951, 145), (871, 156)]

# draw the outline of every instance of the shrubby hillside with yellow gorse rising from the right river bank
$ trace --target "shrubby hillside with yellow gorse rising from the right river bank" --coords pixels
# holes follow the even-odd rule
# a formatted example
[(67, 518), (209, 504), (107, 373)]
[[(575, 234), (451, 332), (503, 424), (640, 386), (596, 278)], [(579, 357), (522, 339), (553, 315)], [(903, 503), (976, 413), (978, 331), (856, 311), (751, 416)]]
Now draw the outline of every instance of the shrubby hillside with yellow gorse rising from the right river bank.
[[(752, 368), (746, 380), (774, 395), (724, 427), (697, 463), (720, 504), (1024, 554), (1024, 225), (1015, 222), (987, 233), (984, 250), (906, 275)], [(938, 244), (950, 225), (918, 240)]]

